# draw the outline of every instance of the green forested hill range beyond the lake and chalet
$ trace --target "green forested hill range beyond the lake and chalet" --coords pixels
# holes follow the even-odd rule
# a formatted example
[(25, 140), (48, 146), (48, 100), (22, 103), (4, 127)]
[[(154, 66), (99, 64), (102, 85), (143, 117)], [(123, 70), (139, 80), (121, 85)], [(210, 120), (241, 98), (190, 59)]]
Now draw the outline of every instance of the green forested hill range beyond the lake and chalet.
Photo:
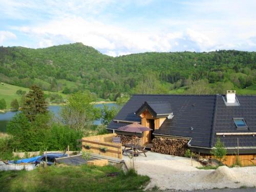
[[(0, 81), (44, 90), (90, 90), (115, 100), (132, 93), (222, 93), (255, 90), (256, 53), (139, 53), (111, 57), (81, 43), (44, 49), (0, 47)], [(251, 92), (249, 92), (251, 93)], [(252, 92), (253, 93), (253, 92)]]

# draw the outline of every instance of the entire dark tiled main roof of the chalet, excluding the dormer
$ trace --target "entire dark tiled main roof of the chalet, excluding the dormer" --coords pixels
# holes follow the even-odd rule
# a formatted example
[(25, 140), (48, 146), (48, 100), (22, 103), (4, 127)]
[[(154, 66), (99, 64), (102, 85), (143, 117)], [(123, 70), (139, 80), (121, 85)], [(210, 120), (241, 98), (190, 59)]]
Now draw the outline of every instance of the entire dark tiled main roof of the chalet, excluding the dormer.
[[(216, 133), (256, 132), (256, 96), (237, 96), (239, 106), (226, 106), (222, 95), (134, 95), (123, 106), (114, 119), (139, 121), (135, 112), (147, 103), (169, 103), (174, 114), (166, 119), (154, 134), (192, 138), (193, 146), (212, 147)], [(244, 118), (248, 130), (238, 130), (232, 118)], [(117, 129), (125, 123), (111, 122), (110, 129)], [(127, 123), (126, 123), (127, 124)], [(227, 147), (256, 146), (255, 137), (218, 136)]]

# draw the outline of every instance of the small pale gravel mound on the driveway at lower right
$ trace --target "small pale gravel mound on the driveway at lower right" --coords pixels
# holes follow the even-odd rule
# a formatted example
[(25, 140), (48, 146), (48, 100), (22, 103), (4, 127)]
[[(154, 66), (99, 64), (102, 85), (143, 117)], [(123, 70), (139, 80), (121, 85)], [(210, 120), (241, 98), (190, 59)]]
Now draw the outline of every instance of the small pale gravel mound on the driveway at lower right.
[(217, 183), (223, 181), (238, 181), (238, 176), (231, 168), (219, 166), (214, 172), (205, 177), (206, 182)]

